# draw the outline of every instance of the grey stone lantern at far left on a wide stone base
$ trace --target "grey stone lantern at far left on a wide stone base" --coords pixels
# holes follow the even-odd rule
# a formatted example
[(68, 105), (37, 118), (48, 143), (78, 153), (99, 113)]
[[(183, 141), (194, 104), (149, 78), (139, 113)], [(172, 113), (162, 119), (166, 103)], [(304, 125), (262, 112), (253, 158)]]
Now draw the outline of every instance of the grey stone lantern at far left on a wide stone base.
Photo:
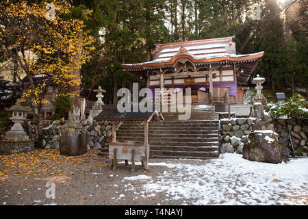
[(12, 120), (14, 125), (10, 131), (5, 132), (3, 140), (0, 141), (0, 153), (21, 153), (33, 150), (34, 141), (29, 140), (27, 133), (21, 126), (21, 123), (27, 117), (29, 107), (17, 103), (6, 110), (12, 112), (10, 120)]

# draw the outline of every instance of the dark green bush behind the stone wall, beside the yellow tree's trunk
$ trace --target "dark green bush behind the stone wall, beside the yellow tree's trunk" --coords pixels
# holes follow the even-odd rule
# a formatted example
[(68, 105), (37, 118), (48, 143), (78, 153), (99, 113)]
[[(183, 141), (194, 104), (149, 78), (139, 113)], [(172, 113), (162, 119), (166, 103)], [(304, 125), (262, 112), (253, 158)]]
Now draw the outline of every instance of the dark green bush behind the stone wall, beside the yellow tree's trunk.
[(55, 106), (55, 111), (53, 116), (51, 116), (51, 119), (52, 120), (61, 118), (67, 119), (68, 113), (73, 107), (73, 101), (70, 98), (70, 96), (66, 95), (56, 96), (53, 105)]

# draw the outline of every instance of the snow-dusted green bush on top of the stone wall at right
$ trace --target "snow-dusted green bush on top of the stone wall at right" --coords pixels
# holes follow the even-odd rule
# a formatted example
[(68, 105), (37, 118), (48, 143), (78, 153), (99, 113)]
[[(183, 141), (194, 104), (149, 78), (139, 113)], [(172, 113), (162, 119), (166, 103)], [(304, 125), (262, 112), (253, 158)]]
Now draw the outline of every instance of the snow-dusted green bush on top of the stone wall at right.
[(302, 95), (294, 94), (285, 103), (270, 105), (269, 112), (273, 118), (284, 116), (308, 118), (307, 101)]

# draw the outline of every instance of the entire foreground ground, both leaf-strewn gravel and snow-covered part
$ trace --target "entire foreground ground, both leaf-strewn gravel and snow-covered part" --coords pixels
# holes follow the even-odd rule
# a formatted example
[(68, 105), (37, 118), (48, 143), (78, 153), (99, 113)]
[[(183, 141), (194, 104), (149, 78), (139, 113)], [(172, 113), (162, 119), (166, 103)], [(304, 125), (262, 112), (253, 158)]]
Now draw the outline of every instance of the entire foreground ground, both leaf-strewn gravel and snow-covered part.
[[(110, 160), (97, 152), (64, 157), (48, 149), (0, 155), (0, 205), (308, 203), (307, 158), (290, 164), (249, 162), (237, 154), (213, 160), (149, 159), (149, 170), (138, 162), (131, 172), (124, 162), (111, 170)], [(285, 165), (285, 170), (279, 172), (277, 165)], [(298, 166), (303, 171), (292, 169)], [(46, 195), (50, 181), (55, 185), (54, 199)]]

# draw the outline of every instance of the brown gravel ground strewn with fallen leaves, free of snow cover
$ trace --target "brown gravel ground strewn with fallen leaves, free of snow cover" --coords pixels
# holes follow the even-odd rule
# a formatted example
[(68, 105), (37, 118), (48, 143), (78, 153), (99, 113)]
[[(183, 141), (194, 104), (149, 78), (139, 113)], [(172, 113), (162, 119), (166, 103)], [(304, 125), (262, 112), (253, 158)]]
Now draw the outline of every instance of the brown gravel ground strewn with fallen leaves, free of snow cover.
[[(48, 151), (57, 153), (56, 150)], [(0, 205), (157, 205), (166, 199), (164, 193), (150, 197), (136, 196), (133, 192), (125, 191), (126, 187), (122, 179), (138, 175), (147, 175), (155, 179), (168, 167), (151, 166), (149, 170), (144, 170), (139, 164), (136, 165), (136, 171), (131, 172), (130, 165), (125, 166), (123, 162), (120, 162), (118, 169), (114, 171), (110, 169), (110, 160), (97, 155), (97, 152), (91, 150), (86, 157), (78, 156), (76, 159), (78, 162), (74, 162), (74, 159), (73, 162), (64, 161), (63, 164), (57, 162), (55, 165), (53, 165), (53, 159), (50, 162), (49, 159), (40, 157), (37, 166), (31, 168), (30, 173), (28, 169), (27, 172), (21, 170), (18, 165), (10, 169), (9, 175), (2, 172), (0, 175)], [(9, 156), (12, 157), (12, 155), (1, 155), (1, 171), (5, 169), (5, 165), (12, 163), (6, 160)], [(20, 156), (17, 159), (20, 159)], [(42, 164), (47, 162), (51, 163), (47, 170), (40, 171)], [(166, 160), (149, 159), (149, 162), (166, 162)], [(23, 165), (31, 166), (31, 162)], [(47, 189), (50, 188), (50, 185), (47, 186), (47, 181), (53, 179), (56, 180), (54, 199), (46, 197)], [(138, 184), (142, 184), (142, 181), (132, 182), (132, 184), (138, 188)], [(122, 197), (121, 194), (125, 196)], [(181, 203), (180, 200), (165, 201), (164, 205), (180, 205)]]

